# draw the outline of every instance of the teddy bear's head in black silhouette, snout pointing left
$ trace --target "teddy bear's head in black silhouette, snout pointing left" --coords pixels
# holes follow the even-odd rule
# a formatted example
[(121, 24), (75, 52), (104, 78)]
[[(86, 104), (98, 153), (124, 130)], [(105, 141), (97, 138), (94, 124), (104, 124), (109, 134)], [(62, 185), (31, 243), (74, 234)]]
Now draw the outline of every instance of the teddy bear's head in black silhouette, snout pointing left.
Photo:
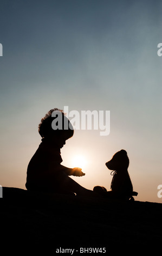
[(127, 152), (124, 149), (121, 149), (113, 158), (106, 163), (106, 166), (109, 170), (125, 170), (129, 166), (129, 159)]

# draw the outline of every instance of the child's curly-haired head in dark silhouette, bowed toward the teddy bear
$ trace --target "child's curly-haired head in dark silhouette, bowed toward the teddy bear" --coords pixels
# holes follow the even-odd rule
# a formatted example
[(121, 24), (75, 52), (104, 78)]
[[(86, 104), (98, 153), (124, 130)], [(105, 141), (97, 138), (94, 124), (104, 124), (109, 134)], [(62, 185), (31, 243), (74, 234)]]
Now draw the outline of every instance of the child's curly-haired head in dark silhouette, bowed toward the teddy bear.
[(62, 148), (65, 141), (73, 136), (74, 129), (63, 111), (53, 108), (41, 119), (38, 132), (42, 138), (55, 141)]

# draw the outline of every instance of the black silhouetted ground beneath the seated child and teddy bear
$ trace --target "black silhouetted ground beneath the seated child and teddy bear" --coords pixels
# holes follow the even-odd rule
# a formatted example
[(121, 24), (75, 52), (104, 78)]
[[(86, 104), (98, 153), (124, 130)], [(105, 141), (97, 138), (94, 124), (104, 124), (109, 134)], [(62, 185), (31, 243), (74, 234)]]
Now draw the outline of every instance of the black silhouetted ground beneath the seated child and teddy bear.
[(161, 252), (162, 204), (3, 187), (0, 205), (0, 242), (6, 255), (55, 255), (60, 247), (106, 248), (99, 255)]

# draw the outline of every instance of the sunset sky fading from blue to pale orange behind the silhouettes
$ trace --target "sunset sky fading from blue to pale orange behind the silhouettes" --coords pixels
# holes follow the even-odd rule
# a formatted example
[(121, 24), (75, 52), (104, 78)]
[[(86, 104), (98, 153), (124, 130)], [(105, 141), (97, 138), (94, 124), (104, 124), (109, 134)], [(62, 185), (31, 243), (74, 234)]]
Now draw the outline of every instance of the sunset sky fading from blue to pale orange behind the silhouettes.
[[(0, 184), (25, 188), (28, 162), (49, 109), (111, 111), (111, 132), (76, 130), (61, 150), (87, 160), (74, 178), (108, 190), (105, 162), (121, 149), (137, 200), (159, 202), (161, 173), (161, 1), (1, 0)], [(135, 198), (136, 199), (136, 198)]]

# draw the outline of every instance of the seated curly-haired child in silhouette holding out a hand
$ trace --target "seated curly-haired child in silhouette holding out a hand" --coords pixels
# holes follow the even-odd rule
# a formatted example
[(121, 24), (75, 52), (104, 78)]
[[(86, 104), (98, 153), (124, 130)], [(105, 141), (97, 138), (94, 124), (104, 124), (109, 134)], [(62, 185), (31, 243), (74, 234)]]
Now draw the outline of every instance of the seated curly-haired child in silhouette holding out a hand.
[[(61, 112), (62, 130), (54, 130), (51, 126), (51, 123), (57, 117), (57, 115), (55, 117), (51, 116), (53, 111)], [(64, 129), (65, 122), (66, 124), (68, 123), (66, 129)], [(28, 164), (27, 182), (25, 184), (27, 190), (59, 193), (73, 192), (79, 195), (93, 194), (93, 191), (87, 190), (69, 177), (69, 175), (85, 175), (81, 168), (67, 168), (61, 165), (60, 149), (74, 133), (72, 124), (64, 113), (57, 108), (51, 109), (41, 119), (38, 132), (42, 137), (42, 142)]]

